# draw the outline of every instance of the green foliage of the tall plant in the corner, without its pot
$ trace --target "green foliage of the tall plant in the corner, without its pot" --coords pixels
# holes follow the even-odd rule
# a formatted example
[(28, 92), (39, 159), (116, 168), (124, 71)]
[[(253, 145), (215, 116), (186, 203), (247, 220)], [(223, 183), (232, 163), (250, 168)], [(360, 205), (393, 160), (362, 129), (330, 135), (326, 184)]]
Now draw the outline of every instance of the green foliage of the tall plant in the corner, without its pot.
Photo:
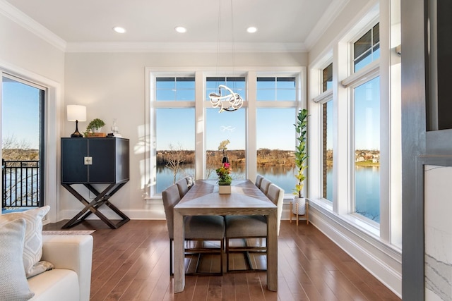
[(294, 195), (297, 197), (302, 197), (302, 190), (304, 186), (304, 170), (307, 166), (307, 119), (308, 110), (299, 110), (297, 116), (297, 123), (295, 123), (295, 131), (297, 132), (297, 142), (298, 145), (295, 148), (295, 166), (297, 166), (297, 173), (295, 173), (295, 178), (297, 178), (297, 184), (295, 185)]

